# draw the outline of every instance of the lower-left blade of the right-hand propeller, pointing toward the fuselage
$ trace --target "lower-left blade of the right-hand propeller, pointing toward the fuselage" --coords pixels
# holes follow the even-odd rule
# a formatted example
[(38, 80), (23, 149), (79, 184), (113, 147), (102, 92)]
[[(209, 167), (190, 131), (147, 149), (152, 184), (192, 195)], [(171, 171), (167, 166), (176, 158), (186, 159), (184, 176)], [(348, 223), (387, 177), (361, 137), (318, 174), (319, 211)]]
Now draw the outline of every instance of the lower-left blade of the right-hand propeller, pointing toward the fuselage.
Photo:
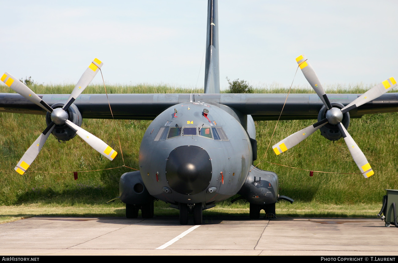
[(317, 131), (319, 128), (324, 126), (326, 123), (328, 123), (328, 120), (325, 118), (323, 120), (320, 120), (316, 124), (310, 125), (307, 128), (304, 128), (300, 131), (297, 131), (293, 133), (292, 135), (289, 135), (279, 143), (275, 144), (272, 146), (272, 149), (274, 152), (279, 155), (283, 153), (284, 151), (287, 151), (291, 147), (297, 145), (301, 141), (303, 141), (306, 137), (310, 136), (312, 133)]

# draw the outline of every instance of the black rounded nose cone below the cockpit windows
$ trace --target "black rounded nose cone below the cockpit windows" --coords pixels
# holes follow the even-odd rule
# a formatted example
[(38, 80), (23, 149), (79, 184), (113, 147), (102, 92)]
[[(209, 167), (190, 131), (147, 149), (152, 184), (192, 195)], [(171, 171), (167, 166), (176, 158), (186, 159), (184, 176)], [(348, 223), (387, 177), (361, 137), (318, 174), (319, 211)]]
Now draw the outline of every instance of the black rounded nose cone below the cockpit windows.
[(184, 195), (193, 195), (207, 189), (211, 171), (209, 154), (198, 146), (179, 146), (171, 151), (166, 162), (169, 186)]

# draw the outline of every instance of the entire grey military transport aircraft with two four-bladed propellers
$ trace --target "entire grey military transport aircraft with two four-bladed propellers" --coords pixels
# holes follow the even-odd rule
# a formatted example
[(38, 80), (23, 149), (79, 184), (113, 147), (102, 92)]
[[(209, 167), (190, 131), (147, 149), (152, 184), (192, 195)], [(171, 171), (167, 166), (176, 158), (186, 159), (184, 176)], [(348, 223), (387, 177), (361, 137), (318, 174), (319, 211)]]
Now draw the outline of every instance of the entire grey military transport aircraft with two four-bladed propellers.
[[(347, 132), (350, 116), (398, 111), (398, 94), (386, 93), (397, 86), (389, 78), (363, 95), (339, 94), (329, 99), (304, 55), (296, 61), (316, 94), (220, 94), (217, 0), (208, 1), (207, 50), (204, 94), (83, 94), (103, 65), (98, 59), (76, 84), (69, 98), (63, 95), (36, 95), (9, 73), (1, 77), (19, 94), (1, 93), (0, 111), (47, 114), (47, 128), (29, 147), (15, 170), (23, 174), (37, 157), (52, 133), (67, 141), (76, 134), (110, 160), (117, 152), (81, 128), (82, 118), (153, 120), (139, 151), (139, 171), (120, 178), (120, 196), (126, 216), (154, 215), (154, 200), (179, 209), (180, 223), (202, 223), (202, 211), (235, 194), (250, 203), (250, 218), (260, 210), (275, 217), (280, 196), (278, 176), (254, 167), (257, 141), (254, 121), (318, 119), (315, 124), (290, 135), (273, 146), (276, 154), (297, 145), (314, 131), (330, 140), (344, 138), (365, 178), (371, 165)], [(77, 99), (79, 97), (79, 99)], [(113, 116), (109, 110), (111, 105)], [(77, 99), (77, 100), (76, 100)]]

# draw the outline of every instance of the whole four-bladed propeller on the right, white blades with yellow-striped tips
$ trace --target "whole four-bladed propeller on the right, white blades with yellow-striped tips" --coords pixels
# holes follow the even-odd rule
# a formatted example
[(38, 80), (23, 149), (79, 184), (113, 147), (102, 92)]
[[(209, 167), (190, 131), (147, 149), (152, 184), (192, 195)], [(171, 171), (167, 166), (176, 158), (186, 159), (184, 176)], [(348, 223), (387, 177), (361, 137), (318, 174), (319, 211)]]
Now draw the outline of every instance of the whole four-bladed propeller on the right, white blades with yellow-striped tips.
[(314, 91), (328, 110), (326, 111), (326, 118), (324, 118), (323, 120), (320, 120), (319, 122), (308, 126), (307, 128), (297, 131), (296, 133), (293, 133), (292, 135), (286, 137), (279, 143), (273, 145), (272, 148), (274, 152), (279, 155), (284, 151), (287, 151), (291, 147), (303, 141), (305, 138), (310, 136), (312, 133), (314, 133), (325, 124), (330, 123), (338, 127), (341, 136), (344, 138), (344, 141), (347, 144), (348, 150), (350, 151), (359, 170), (361, 170), (363, 176), (365, 178), (372, 176), (374, 172), (369, 162), (367, 161), (361, 149), (359, 149), (357, 143), (355, 143), (351, 135), (349, 135), (348, 131), (345, 129), (341, 121), (343, 120), (344, 113), (349, 112), (350, 110), (357, 108), (369, 101), (372, 101), (380, 97), (387, 91), (390, 91), (391, 89), (396, 87), (397, 83), (395, 79), (393, 77), (386, 79), (382, 83), (369, 89), (369, 91), (365, 92), (363, 95), (359, 96), (357, 99), (355, 99), (340, 110), (339, 108), (333, 107), (330, 103), (328, 96), (326, 95), (322, 85), (320, 84), (318, 76), (316, 75), (312, 66), (309, 64), (307, 58), (304, 55), (301, 55), (296, 58), (296, 61), (302, 73), (304, 74), (304, 77), (307, 79), (308, 83), (310, 83), (312, 89), (314, 89)]

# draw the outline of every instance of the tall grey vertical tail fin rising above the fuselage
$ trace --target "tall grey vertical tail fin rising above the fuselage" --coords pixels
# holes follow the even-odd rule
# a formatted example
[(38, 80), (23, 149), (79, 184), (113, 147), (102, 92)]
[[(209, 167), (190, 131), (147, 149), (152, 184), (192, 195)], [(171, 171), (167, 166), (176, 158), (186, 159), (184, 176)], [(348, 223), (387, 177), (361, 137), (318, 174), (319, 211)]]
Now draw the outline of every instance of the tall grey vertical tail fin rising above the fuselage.
[(217, 0), (207, 3), (205, 93), (220, 93), (219, 12)]

